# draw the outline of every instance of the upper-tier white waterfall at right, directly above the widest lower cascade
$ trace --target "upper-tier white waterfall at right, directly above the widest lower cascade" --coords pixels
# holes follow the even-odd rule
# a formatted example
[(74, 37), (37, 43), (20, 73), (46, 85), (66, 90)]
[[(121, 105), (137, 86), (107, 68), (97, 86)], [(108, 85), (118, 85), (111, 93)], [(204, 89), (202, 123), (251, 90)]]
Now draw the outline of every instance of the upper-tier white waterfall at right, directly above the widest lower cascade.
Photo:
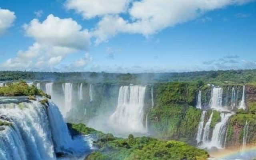
[(212, 98), (210, 100), (210, 106), (212, 109), (223, 110), (222, 107), (222, 88), (214, 87), (212, 89)]

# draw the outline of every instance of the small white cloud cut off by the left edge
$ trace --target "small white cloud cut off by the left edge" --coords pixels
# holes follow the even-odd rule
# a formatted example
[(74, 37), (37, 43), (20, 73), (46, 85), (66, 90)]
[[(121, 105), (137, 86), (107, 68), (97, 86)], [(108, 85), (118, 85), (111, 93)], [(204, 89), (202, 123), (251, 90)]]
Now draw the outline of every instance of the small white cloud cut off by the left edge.
[(16, 19), (15, 13), (0, 8), (0, 36), (10, 28)]

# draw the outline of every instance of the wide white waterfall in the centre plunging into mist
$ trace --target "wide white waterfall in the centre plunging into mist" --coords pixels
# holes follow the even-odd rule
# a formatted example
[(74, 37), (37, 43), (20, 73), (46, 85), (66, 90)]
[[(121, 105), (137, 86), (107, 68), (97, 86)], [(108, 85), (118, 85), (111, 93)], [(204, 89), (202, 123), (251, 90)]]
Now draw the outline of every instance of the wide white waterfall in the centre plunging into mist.
[(110, 116), (110, 124), (118, 130), (146, 133), (144, 127), (144, 98), (146, 86), (121, 86), (116, 111)]

